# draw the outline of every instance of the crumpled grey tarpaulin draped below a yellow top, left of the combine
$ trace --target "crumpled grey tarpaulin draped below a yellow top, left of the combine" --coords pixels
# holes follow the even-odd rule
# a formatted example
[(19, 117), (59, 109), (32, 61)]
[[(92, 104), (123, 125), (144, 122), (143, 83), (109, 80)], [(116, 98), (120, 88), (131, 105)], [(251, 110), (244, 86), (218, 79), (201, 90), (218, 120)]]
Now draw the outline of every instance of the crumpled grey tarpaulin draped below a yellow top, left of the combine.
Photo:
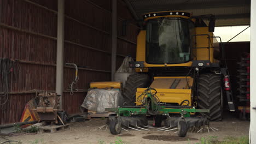
[(106, 108), (119, 105), (121, 105), (119, 89), (89, 89), (81, 106), (91, 111), (104, 112)]

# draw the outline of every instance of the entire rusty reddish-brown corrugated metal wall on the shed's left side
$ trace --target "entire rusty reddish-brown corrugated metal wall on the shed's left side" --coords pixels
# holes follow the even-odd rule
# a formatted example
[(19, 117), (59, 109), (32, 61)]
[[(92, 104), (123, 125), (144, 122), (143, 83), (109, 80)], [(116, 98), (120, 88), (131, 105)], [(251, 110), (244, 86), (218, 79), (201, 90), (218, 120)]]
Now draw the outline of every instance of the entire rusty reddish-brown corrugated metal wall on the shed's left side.
[[(65, 63), (76, 63), (82, 89), (70, 95), (74, 68), (64, 69), (63, 109), (79, 112), (91, 81), (109, 81), (111, 66), (111, 2), (65, 1)], [(117, 66), (124, 56), (135, 57), (139, 28), (125, 7), (118, 3)], [(19, 73), (10, 76), (8, 103), (0, 107), (0, 124), (18, 122), (33, 89), (55, 91), (57, 0), (0, 0), (0, 57), (18, 59)], [(121, 36), (122, 22), (128, 21)]]

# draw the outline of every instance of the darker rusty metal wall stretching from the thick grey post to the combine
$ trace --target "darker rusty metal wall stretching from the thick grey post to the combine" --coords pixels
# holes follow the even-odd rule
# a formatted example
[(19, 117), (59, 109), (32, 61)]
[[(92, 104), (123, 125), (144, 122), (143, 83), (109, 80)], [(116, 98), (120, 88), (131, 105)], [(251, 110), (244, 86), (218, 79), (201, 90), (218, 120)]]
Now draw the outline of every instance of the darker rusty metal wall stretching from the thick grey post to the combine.
[[(111, 68), (111, 2), (77, 0), (65, 1), (65, 62), (76, 63), (85, 69), (79, 70), (76, 88), (89, 88), (91, 81), (109, 81)], [(120, 13), (124, 3), (119, 1)], [(122, 8), (121, 8), (122, 7)], [(118, 56), (117, 68), (124, 56), (135, 57), (138, 27), (132, 21), (130, 12), (118, 19)], [(127, 16), (128, 15), (128, 16)], [(121, 36), (122, 21), (131, 21), (127, 25), (127, 34)], [(72, 41), (72, 43), (69, 43)], [(73, 44), (75, 43), (75, 44)], [(74, 57), (75, 56), (75, 57)], [(86, 70), (93, 69), (93, 70)], [(97, 71), (95, 71), (97, 70)], [(100, 70), (100, 71), (98, 71)], [(74, 76), (74, 69), (65, 69), (65, 89)], [(79, 111), (86, 93), (65, 93), (63, 107), (68, 113)], [(73, 101), (73, 103), (72, 103)]]

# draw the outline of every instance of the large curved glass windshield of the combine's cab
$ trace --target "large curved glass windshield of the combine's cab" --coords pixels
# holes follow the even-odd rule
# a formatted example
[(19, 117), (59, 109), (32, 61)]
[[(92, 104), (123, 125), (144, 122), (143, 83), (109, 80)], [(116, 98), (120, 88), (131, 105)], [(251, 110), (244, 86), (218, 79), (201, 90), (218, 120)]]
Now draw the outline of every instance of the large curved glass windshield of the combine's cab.
[(190, 61), (191, 29), (194, 23), (183, 18), (151, 20), (146, 26), (146, 62), (173, 64)]

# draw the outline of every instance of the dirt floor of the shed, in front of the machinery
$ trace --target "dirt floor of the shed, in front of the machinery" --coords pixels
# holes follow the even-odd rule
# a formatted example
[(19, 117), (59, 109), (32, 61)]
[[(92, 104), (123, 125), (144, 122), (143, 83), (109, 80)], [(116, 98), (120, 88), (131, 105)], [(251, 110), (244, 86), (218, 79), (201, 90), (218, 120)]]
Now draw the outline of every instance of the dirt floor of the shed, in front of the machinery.
[[(249, 122), (240, 121), (234, 117), (225, 118), (222, 122), (211, 122), (211, 126), (219, 129), (217, 132), (210, 131), (204, 133), (188, 133), (186, 137), (178, 137), (175, 130), (171, 132), (163, 132), (157, 130), (136, 131), (129, 129), (129, 132), (122, 130), (120, 135), (111, 135), (109, 129), (99, 130), (106, 123), (106, 120), (94, 118), (90, 121), (82, 123), (72, 123), (71, 129), (65, 131), (57, 131), (56, 133), (44, 134), (15, 134), (5, 136), (9, 140), (20, 141), (23, 143), (104, 143), (106, 144), (121, 139), (124, 143), (196, 143), (201, 137), (217, 136), (219, 140), (227, 136), (243, 136), (248, 135)], [(189, 140), (189, 141), (188, 141)], [(0, 143), (5, 140), (0, 139)], [(103, 142), (104, 141), (104, 142)]]

